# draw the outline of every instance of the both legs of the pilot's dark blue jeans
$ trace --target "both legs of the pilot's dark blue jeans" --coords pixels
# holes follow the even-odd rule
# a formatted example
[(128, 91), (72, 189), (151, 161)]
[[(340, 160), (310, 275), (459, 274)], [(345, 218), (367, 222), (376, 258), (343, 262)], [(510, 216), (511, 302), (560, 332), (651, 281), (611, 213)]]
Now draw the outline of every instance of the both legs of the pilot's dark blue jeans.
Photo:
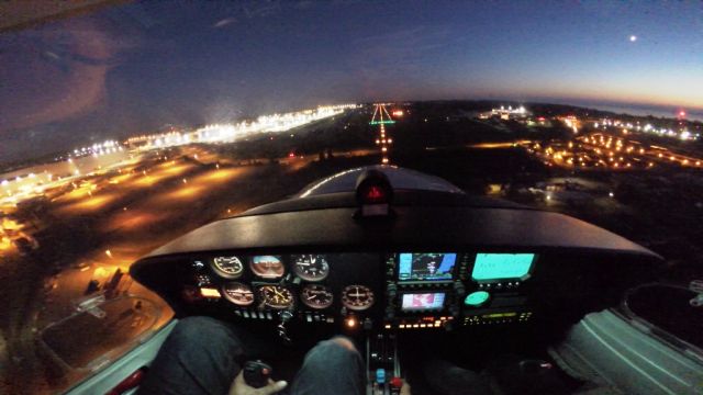
[[(140, 394), (226, 394), (257, 345), (249, 334), (210, 317), (188, 317), (166, 339)], [(243, 338), (246, 341), (243, 341)], [(292, 395), (361, 395), (366, 372), (358, 351), (325, 340), (312, 348), (287, 388)]]

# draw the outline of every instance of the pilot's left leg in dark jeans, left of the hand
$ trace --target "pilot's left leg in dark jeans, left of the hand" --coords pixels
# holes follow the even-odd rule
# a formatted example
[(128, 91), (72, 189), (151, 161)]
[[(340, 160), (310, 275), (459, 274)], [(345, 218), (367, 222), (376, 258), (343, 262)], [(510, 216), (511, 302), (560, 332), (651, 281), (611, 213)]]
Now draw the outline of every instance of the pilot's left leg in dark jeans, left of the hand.
[(227, 324), (183, 318), (161, 346), (140, 394), (226, 394), (243, 359), (243, 343)]

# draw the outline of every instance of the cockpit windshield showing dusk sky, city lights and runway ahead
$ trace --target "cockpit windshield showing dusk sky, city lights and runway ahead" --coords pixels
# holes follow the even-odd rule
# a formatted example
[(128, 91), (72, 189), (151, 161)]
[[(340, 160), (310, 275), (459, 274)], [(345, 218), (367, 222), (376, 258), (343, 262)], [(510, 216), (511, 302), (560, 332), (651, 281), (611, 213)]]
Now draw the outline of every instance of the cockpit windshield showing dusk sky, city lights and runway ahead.
[(366, 166), (400, 188), (582, 218), (663, 256), (669, 282), (701, 278), (699, 3), (5, 2), (0, 15), (2, 393), (69, 388), (163, 327), (172, 312), (127, 274), (141, 256), (305, 185), (349, 190), (328, 178)]

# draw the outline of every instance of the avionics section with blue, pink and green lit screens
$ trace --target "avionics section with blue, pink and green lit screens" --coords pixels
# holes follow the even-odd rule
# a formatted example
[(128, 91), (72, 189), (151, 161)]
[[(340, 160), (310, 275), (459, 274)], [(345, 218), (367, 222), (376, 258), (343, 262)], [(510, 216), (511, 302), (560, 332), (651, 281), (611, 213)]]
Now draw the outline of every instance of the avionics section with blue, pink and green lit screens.
[(386, 260), (384, 329), (524, 323), (534, 253), (400, 252)]

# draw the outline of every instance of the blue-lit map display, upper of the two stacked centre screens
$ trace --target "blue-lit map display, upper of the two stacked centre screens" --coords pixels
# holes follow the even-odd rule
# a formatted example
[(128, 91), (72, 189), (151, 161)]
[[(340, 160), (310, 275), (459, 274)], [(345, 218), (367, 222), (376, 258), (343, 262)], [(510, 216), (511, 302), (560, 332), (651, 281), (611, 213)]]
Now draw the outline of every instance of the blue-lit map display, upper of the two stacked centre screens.
[(398, 280), (450, 281), (456, 261), (456, 253), (399, 253)]

